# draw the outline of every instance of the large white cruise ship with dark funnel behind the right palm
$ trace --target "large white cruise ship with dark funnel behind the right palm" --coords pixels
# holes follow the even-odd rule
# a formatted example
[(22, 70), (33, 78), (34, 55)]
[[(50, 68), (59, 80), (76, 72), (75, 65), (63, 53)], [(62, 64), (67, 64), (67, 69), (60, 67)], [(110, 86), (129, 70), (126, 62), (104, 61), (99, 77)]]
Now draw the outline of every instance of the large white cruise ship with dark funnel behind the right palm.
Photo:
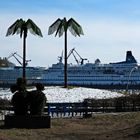
[[(61, 57), (60, 57), (61, 58)], [(64, 64), (62, 58), (44, 70), (40, 82), (46, 85), (64, 85)], [(131, 51), (126, 52), (126, 60), (117, 63), (68, 64), (68, 85), (95, 88), (140, 88), (140, 66)]]

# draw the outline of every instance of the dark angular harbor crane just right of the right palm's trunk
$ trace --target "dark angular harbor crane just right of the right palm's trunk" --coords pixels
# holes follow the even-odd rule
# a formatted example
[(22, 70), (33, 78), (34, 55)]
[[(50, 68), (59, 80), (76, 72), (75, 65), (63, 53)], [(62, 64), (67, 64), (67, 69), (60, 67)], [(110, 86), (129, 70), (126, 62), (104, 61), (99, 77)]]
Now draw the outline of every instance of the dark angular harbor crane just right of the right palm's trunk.
[[(72, 54), (73, 57), (75, 58), (75, 61), (77, 62), (77, 64), (83, 65), (83, 64), (84, 64), (84, 60), (87, 60), (87, 58), (82, 58), (82, 57), (80, 56), (80, 54), (75, 50), (75, 48), (73, 48), (73, 49), (70, 50), (70, 52), (69, 52), (69, 54), (68, 54), (68, 56), (67, 56), (67, 59), (70, 57), (71, 54)], [(78, 55), (78, 57), (80, 58), (80, 60), (78, 60), (78, 59), (76, 58), (76, 55)]]

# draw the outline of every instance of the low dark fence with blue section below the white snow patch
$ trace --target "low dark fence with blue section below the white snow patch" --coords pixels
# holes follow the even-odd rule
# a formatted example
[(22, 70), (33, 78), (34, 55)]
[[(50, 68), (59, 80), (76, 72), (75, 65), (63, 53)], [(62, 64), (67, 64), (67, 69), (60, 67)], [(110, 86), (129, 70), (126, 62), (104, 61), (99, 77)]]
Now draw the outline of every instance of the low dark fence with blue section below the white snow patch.
[[(1, 112), (11, 113), (12, 106), (2, 106)], [(113, 99), (85, 99), (81, 103), (47, 103), (44, 114), (53, 117), (90, 116), (101, 112), (140, 111), (140, 95), (129, 95)]]

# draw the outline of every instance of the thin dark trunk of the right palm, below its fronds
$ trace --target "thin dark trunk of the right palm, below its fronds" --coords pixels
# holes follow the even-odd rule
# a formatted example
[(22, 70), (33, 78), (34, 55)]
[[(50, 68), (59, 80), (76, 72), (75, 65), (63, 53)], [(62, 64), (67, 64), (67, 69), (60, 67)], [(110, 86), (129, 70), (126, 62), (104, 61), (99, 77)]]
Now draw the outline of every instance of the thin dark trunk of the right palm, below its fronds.
[(64, 87), (67, 88), (67, 30), (65, 31)]

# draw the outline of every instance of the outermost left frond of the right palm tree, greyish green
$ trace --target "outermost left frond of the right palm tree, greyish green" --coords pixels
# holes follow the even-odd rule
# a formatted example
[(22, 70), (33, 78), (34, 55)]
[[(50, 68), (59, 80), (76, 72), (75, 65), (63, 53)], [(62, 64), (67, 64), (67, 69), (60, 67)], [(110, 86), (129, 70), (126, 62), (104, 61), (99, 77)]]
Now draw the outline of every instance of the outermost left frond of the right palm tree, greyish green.
[(48, 35), (51, 35), (53, 34), (55, 31), (58, 30), (58, 27), (60, 26), (60, 23), (61, 23), (61, 19), (58, 18), (50, 27), (49, 27), (49, 30), (48, 30)]

